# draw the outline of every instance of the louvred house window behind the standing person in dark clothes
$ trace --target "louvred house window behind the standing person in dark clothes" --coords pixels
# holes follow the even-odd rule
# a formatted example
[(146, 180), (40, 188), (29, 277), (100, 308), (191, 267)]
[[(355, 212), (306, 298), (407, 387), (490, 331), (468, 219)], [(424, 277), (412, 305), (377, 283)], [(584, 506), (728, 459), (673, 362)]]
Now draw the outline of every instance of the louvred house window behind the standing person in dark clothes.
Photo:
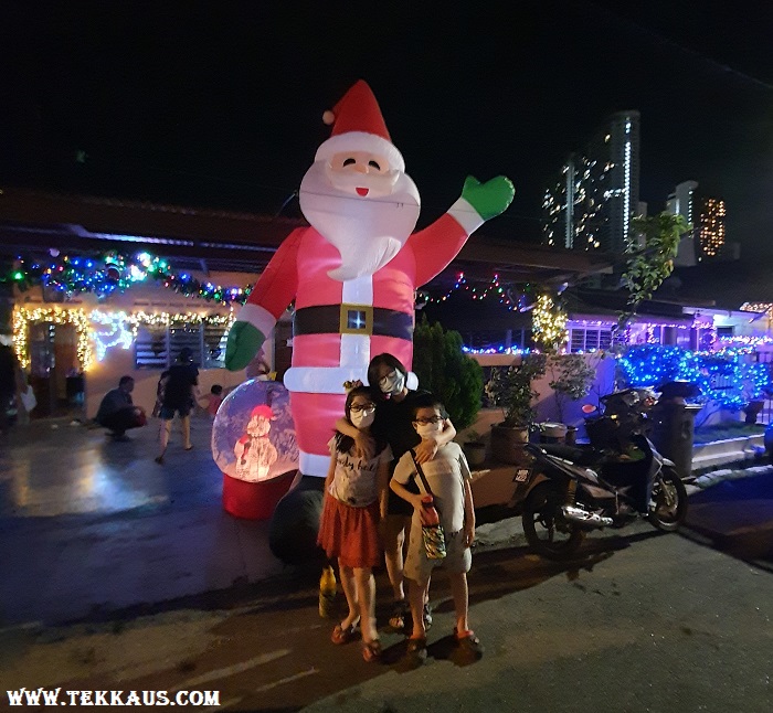
[(142, 324), (135, 340), (135, 368), (167, 369), (187, 347), (202, 369), (222, 369), (226, 337), (226, 324), (210, 321)]

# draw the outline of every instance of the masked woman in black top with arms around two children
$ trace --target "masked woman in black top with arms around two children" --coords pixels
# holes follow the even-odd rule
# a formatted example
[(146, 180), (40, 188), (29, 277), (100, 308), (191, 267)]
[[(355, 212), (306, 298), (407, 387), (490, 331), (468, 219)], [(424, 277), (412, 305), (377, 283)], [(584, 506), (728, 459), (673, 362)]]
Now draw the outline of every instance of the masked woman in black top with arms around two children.
[[(423, 389), (410, 390), (406, 382), (407, 370), (396, 356), (378, 354), (371, 359), (368, 365), (368, 383), (374, 390), (378, 386), (372, 434), (386, 440), (392, 448), (394, 460), (390, 465), (390, 478), (394, 472), (395, 464), (411, 448), (415, 450), (419, 462), (424, 464), (435, 457), (440, 446), (452, 441), (456, 436), (456, 429), (448, 418), (426, 436), (416, 433), (413, 427), (414, 401), (430, 392)], [(346, 419), (339, 419), (336, 428), (354, 438), (356, 453), (361, 455), (373, 453), (374, 440), (371, 435), (354, 433), (354, 429), (347, 425)], [(419, 492), (417, 489), (416, 492)], [(389, 622), (395, 629), (404, 629), (411, 625), (411, 611), (405, 597), (403, 576), (403, 547), (406, 533), (410, 532), (412, 514), (411, 504), (390, 490), (382, 535), (386, 574), (394, 597)], [(432, 625), (428, 605), (424, 608), (424, 624), (427, 628)]]

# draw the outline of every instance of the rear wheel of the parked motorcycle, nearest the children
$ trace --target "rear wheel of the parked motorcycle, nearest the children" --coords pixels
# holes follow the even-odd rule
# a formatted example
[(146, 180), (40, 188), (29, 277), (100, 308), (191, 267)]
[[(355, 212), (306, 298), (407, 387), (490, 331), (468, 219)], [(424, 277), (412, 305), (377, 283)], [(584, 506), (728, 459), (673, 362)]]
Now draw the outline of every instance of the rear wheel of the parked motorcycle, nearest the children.
[(584, 538), (580, 528), (561, 512), (563, 493), (553, 483), (537, 486), (523, 503), (523, 534), (529, 546), (548, 560), (562, 560), (576, 552)]

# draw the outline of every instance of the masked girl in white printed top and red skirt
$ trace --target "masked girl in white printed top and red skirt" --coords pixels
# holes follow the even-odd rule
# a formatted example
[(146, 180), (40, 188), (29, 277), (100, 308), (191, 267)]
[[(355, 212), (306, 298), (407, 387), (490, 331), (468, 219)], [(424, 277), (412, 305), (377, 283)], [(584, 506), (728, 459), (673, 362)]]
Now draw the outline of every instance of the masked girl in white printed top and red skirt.
[[(375, 416), (373, 394), (358, 385), (347, 395), (345, 421), (349, 428), (370, 434)], [(341, 586), (349, 613), (330, 637), (333, 643), (347, 643), (359, 621), (362, 631), (362, 657), (374, 661), (381, 657), (375, 627), (375, 581), (373, 567), (381, 562), (379, 523), (386, 515), (389, 464), (392, 451), (374, 439), (374, 455), (360, 457), (354, 439), (337, 430), (330, 439), (330, 467), (325, 479), (322, 515), (317, 544), (328, 557), (338, 558)]]

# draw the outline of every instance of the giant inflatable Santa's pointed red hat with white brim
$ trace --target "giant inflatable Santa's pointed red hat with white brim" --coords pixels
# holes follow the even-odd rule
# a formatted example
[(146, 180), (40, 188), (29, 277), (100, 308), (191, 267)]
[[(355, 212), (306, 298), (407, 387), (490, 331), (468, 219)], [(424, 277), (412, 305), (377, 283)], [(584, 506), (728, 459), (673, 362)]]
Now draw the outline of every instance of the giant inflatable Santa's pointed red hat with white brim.
[(390, 168), (405, 170), (405, 161), (390, 139), (379, 103), (362, 79), (332, 109), (325, 111), (322, 121), (332, 126), (332, 134), (317, 149), (316, 161), (327, 161), (346, 151), (369, 151), (383, 156)]

